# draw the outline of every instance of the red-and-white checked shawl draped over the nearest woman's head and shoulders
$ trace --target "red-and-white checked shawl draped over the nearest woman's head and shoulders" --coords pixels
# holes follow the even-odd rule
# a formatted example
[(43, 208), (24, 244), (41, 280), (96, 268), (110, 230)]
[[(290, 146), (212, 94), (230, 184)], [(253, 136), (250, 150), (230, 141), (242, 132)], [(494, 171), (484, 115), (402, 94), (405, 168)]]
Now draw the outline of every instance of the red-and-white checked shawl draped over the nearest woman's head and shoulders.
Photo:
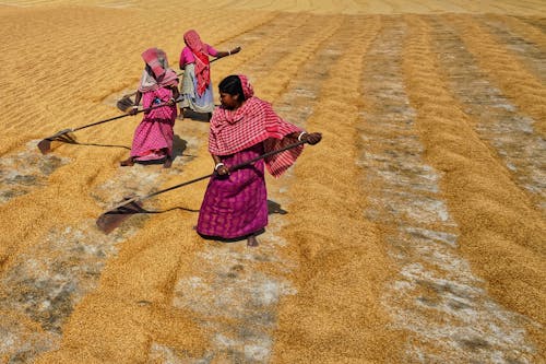
[[(253, 89), (245, 75), (239, 75), (245, 97), (237, 109), (217, 107), (211, 119), (209, 151), (214, 155), (229, 155), (263, 142), (264, 151), (278, 150), (297, 142), (287, 137), (301, 129), (283, 120), (271, 104), (253, 96)], [(265, 166), (273, 177), (280, 177), (301, 154), (304, 145), (265, 158)]]

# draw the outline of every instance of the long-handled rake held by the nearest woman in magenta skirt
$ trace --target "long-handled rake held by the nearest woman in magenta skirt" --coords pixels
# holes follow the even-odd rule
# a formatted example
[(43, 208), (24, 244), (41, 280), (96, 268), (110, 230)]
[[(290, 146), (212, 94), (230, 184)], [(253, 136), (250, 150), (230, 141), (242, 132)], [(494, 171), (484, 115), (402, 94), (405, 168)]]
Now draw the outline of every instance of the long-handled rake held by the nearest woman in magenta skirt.
[[(251, 158), (249, 161), (242, 162), (240, 164), (237, 164), (237, 165), (230, 167), (229, 172), (242, 168), (242, 167), (245, 167), (245, 166), (247, 166), (249, 164), (254, 163), (256, 161), (265, 158), (268, 156), (271, 156), (271, 155), (274, 155), (274, 154), (287, 151), (289, 149), (293, 149), (293, 148), (296, 148), (296, 146), (299, 146), (299, 145), (302, 145), (302, 144), (305, 144), (305, 142), (304, 141), (299, 141), (297, 143), (286, 145), (284, 148), (278, 149), (278, 150), (274, 150), (274, 151), (264, 153), (264, 154), (259, 155), (259, 156), (257, 156), (254, 158)], [(111, 231), (114, 231), (116, 227), (118, 227), (121, 224), (121, 222), (123, 222), (123, 220), (126, 220), (130, 215), (135, 214), (135, 213), (143, 213), (143, 212), (145, 213), (146, 211), (142, 208), (142, 201), (147, 200), (147, 199), (150, 199), (150, 198), (152, 198), (154, 196), (157, 196), (159, 193), (165, 193), (165, 192), (174, 190), (176, 188), (188, 186), (188, 185), (194, 184), (197, 181), (210, 178), (210, 177), (212, 177), (214, 175), (216, 175), (216, 172), (213, 172), (213, 173), (211, 173), (211, 174), (209, 174), (206, 176), (198, 177), (198, 178), (194, 178), (194, 179), (181, 183), (179, 185), (175, 185), (175, 186), (162, 189), (159, 191), (155, 191), (155, 192), (146, 195), (146, 196), (133, 197), (133, 198), (127, 199), (123, 202), (115, 206), (110, 210), (106, 211), (100, 216), (98, 216), (97, 222), (96, 222), (97, 226), (103, 232), (105, 232), (106, 234), (108, 234)]]

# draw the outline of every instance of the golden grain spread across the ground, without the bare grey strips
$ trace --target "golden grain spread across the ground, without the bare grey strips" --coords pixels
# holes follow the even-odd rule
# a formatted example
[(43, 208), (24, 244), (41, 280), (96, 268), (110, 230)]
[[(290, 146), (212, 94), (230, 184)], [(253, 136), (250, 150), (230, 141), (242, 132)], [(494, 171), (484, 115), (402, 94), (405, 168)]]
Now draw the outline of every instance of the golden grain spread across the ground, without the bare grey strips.
[[(207, 125), (195, 120), (175, 126), (182, 155), (170, 172), (135, 167), (131, 175), (118, 167), (140, 117), (78, 131), (81, 145), (56, 143), (47, 160), (36, 149), (38, 140), (59, 130), (119, 115), (115, 102), (134, 90), (142, 70), (140, 54), (147, 47), (165, 49), (178, 70), (182, 34), (189, 28), (219, 49), (242, 46), (236, 57), (214, 63), (214, 84), (225, 75), (246, 73), (257, 95), (273, 106), (297, 89), (294, 80), (306, 79), (306, 64), (321, 52), (332, 56), (308, 80), (314, 84), (313, 102), (293, 105), (308, 106), (307, 119), (290, 120), (321, 131), (323, 141), (306, 148), (284, 181), (268, 179), (270, 199), (284, 199), (282, 208), (288, 211), (271, 219), (282, 226), (275, 237), (287, 243), (273, 250), (292, 268), (256, 267), (289, 282), (294, 291), (272, 308), (270, 352), (257, 362), (407, 360), (407, 343), (418, 340), (407, 328), (393, 325), (391, 306), (384, 303), (385, 290), (400, 274), (385, 238), (396, 226), (366, 216), (364, 211), (373, 203), (371, 189), (381, 186), (368, 186), (367, 172), (359, 166), (363, 151), (372, 151), (363, 139), (372, 121), (367, 113), (387, 107), (363, 92), (372, 75), (365, 73), (369, 49), (382, 30), (404, 23), (401, 82), (416, 111), (424, 161), (441, 173), (439, 195), (456, 223), (458, 251), (492, 301), (524, 317), (525, 340), (534, 348), (529, 357), (539, 363), (546, 350), (546, 221), (536, 201), (543, 201), (544, 187), (538, 197), (525, 189), (519, 172), (507, 168), (495, 144), (476, 131), (477, 120), (465, 114), (437, 61), (441, 50), (432, 47), (429, 16), (458, 32), (476, 67), (518, 113), (534, 119), (531, 132), (544, 138), (544, 74), (526, 68), (479, 17), (506, 19), (511, 32), (544, 55), (544, 13), (546, 3), (539, 0), (1, 1), (0, 188), (14, 196), (0, 200), (0, 332), (13, 330), (19, 339), (0, 344), (0, 362), (9, 363), (19, 353), (22, 362), (36, 363), (166, 363), (168, 355), (153, 354), (154, 345), (163, 345), (178, 357), (171, 357), (173, 363), (186, 363), (181, 357), (211, 352), (214, 329), (205, 325), (210, 318), (175, 305), (177, 286), (198, 273), (213, 280), (213, 273), (197, 263), (211, 250), (246, 254), (247, 248), (242, 242), (229, 248), (205, 242), (192, 230), (206, 183), (146, 202), (171, 210), (131, 218), (129, 227), (116, 235), (119, 240), (108, 243), (115, 248), (100, 258), (92, 283), (70, 301), (62, 318), (28, 314), (44, 310), (28, 306), (34, 298), (26, 285), (12, 283), (24, 281), (16, 280), (24, 275), (17, 269), (29, 261), (39, 261), (32, 266), (39, 268), (35, 272), (49, 271), (60, 261), (66, 242), (58, 236), (81, 230), (74, 239), (103, 242), (94, 221), (119, 201), (123, 188), (145, 195), (211, 172)], [(335, 47), (340, 51), (329, 54)], [(32, 169), (39, 161), (52, 171)], [(34, 171), (32, 183), (5, 177), (21, 168)], [(60, 248), (50, 248), (55, 244)], [(268, 244), (262, 238), (257, 251), (271, 253), (260, 250)], [(79, 265), (62, 260), (59, 269), (87, 277), (81, 275)], [(217, 318), (236, 331), (240, 324), (230, 324), (233, 319)], [(57, 322), (57, 331), (50, 321)], [(22, 342), (29, 344), (19, 351)], [(212, 362), (238, 361), (224, 351)]]

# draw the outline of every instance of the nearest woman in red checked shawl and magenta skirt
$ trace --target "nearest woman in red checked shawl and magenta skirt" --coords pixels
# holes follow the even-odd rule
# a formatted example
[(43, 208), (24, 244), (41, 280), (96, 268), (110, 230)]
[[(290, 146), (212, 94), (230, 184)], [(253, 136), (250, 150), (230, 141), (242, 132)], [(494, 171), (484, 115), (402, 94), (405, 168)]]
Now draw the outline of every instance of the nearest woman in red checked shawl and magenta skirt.
[(264, 169), (280, 177), (304, 145), (236, 171), (229, 172), (229, 167), (298, 140), (316, 144), (322, 134), (307, 133), (281, 119), (271, 104), (253, 96), (245, 75), (229, 75), (218, 89), (222, 105), (214, 110), (209, 134), (216, 175), (209, 181), (197, 231), (209, 238), (247, 238), (249, 246), (257, 246), (256, 236), (268, 225)]

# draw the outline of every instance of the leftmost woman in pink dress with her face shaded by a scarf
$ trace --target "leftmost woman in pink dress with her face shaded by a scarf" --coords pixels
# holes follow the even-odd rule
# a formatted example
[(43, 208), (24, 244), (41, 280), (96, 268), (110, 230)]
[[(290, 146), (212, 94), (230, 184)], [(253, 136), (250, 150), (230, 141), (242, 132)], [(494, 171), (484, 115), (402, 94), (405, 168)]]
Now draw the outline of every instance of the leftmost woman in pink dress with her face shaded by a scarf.
[(132, 166), (134, 162), (164, 162), (169, 168), (173, 164), (173, 139), (177, 116), (176, 101), (179, 96), (178, 78), (168, 68), (167, 55), (162, 49), (150, 48), (142, 54), (145, 67), (142, 72), (134, 106), (129, 111), (136, 114), (142, 99), (142, 107), (150, 108), (164, 104), (144, 113), (141, 124), (134, 131), (131, 155), (120, 163), (121, 166)]

